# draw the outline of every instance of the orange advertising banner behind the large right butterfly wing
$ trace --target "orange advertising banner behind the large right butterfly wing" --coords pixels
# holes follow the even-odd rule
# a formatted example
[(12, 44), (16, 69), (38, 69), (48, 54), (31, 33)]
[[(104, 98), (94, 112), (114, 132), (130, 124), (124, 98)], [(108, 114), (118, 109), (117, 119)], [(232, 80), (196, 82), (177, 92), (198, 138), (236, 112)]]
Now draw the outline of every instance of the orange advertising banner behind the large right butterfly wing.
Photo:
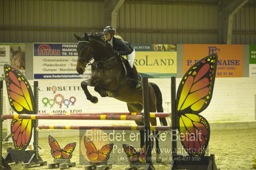
[(184, 44), (183, 74), (196, 61), (218, 55), (216, 77), (243, 77), (243, 45)]

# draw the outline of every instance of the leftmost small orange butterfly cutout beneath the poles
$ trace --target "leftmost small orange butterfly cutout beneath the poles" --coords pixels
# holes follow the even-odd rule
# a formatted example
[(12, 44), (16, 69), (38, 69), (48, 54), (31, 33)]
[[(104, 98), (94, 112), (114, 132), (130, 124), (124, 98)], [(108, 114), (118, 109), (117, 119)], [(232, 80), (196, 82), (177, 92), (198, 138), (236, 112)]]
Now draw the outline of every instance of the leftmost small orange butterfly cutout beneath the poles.
[(51, 154), (52, 157), (55, 159), (61, 158), (61, 159), (69, 159), (72, 157), (72, 153), (74, 149), (76, 148), (76, 143), (68, 143), (63, 149), (60, 148), (60, 144), (49, 135), (49, 145), (51, 147)]

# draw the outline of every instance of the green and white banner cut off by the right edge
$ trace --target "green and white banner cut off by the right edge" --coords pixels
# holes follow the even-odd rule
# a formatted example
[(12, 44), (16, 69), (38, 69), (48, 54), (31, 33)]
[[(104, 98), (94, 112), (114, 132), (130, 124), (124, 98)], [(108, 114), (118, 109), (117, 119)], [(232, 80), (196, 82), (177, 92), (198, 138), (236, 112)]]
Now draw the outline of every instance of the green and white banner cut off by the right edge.
[(256, 45), (249, 46), (249, 77), (256, 77)]

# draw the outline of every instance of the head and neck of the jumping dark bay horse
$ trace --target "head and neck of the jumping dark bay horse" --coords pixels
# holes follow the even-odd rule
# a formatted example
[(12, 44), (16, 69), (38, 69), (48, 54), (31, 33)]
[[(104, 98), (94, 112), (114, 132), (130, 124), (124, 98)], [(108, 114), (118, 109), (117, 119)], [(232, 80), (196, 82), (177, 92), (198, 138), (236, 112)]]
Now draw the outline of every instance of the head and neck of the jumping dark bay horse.
[(74, 34), (78, 40), (77, 52), (78, 59), (76, 70), (79, 74), (83, 74), (86, 65), (93, 58), (95, 61), (102, 61), (109, 56), (113, 56), (113, 48), (109, 43), (101, 39), (100, 34), (93, 33), (89, 36), (84, 33), (84, 36), (78, 36)]

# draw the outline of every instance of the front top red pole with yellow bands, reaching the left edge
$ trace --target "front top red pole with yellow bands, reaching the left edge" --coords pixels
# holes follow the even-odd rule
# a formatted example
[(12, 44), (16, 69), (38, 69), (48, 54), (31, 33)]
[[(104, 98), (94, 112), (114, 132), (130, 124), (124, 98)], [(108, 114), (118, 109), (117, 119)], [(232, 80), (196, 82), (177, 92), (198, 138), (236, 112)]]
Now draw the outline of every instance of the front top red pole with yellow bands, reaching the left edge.
[(135, 120), (142, 121), (142, 115), (38, 115), (4, 114), (3, 119), (14, 120)]

